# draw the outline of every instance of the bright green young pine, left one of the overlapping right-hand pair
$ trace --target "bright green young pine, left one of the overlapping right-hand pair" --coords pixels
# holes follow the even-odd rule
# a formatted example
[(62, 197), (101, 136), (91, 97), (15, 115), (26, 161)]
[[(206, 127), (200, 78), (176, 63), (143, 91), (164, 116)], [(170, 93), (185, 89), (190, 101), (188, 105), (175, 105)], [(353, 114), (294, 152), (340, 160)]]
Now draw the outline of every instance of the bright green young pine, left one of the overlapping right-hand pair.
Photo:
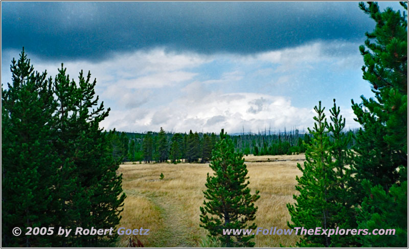
[[(334, 174), (334, 163), (330, 154), (330, 142), (328, 137), (328, 123), (325, 118), (321, 101), (318, 107), (314, 107), (317, 116), (314, 117), (313, 130), (308, 128), (313, 138), (311, 145), (306, 144), (304, 167), (299, 163), (297, 167), (303, 175), (296, 180), (296, 190), (299, 195), (293, 195), (296, 203), (287, 204), (292, 223), (287, 222), (290, 228), (304, 227), (330, 229), (336, 227), (333, 216), (342, 208), (335, 202), (337, 191), (337, 179)], [(335, 225), (335, 226), (334, 226)], [(326, 235), (304, 235), (297, 246), (331, 246), (331, 238)]]

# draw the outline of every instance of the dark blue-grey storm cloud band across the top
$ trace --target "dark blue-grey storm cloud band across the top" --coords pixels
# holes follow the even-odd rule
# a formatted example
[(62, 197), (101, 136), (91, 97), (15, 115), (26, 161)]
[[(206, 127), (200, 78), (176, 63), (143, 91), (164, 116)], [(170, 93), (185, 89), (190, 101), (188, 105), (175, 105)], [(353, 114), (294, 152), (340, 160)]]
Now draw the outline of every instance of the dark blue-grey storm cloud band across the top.
[(373, 27), (357, 2), (2, 3), (2, 49), (25, 46), (43, 59), (104, 59), (154, 46), (251, 54), (362, 40)]

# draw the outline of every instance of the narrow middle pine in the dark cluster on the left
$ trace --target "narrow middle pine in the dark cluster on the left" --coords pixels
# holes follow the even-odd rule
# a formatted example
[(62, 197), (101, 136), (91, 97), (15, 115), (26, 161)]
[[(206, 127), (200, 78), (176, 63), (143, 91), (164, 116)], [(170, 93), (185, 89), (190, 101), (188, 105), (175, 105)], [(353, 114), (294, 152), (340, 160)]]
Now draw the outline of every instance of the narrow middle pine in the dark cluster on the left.
[[(56, 95), (58, 110), (55, 113), (56, 139), (53, 146), (58, 154), (61, 165), (57, 171), (58, 181), (55, 186), (58, 201), (53, 203), (52, 210), (57, 219), (56, 227), (63, 229), (75, 229), (78, 226), (87, 226), (90, 222), (90, 203), (85, 188), (81, 186), (80, 170), (75, 159), (79, 159), (78, 153), (81, 141), (81, 124), (77, 119), (80, 92), (76, 83), (70, 81), (65, 74), (66, 69), (58, 69), (59, 73), (53, 82), (53, 91)], [(81, 153), (81, 152), (80, 152)], [(88, 214), (88, 216), (87, 216)], [(81, 222), (81, 223), (80, 223)], [(58, 246), (81, 246), (81, 239), (71, 237), (56, 238)]]

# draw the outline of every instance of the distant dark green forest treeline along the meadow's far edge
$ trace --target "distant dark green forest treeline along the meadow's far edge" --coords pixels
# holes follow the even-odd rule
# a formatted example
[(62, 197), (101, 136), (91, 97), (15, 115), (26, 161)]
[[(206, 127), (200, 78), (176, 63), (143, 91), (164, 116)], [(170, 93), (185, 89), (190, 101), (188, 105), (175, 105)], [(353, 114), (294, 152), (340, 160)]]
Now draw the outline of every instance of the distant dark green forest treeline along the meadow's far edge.
[[(347, 133), (355, 134), (350, 130)], [(178, 162), (207, 162), (211, 159), (211, 153), (219, 135), (215, 133), (172, 133), (160, 132), (110, 133), (113, 147), (113, 156), (123, 161), (145, 161), (172, 163)], [(231, 135), (236, 152), (243, 155), (293, 155), (304, 153), (305, 144), (311, 141), (311, 135), (302, 134), (299, 130), (271, 133), (259, 132), (242, 133)], [(354, 140), (348, 144), (350, 148)]]

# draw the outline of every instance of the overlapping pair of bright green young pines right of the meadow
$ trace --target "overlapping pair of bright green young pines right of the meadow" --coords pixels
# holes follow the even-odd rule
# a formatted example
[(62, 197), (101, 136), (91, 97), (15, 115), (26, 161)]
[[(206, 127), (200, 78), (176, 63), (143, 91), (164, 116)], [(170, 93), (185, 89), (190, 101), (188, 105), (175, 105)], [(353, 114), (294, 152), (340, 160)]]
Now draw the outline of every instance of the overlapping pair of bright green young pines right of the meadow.
[[(331, 120), (328, 124), (324, 109), (315, 106), (314, 128), (308, 128), (312, 135), (310, 144), (306, 146), (304, 166), (297, 164), (303, 175), (296, 177), (299, 195), (293, 195), (296, 203), (287, 204), (291, 221), (287, 222), (290, 228), (304, 227), (307, 229), (320, 227), (333, 229), (345, 219), (350, 208), (346, 204), (345, 181), (348, 173), (345, 164), (348, 158), (346, 145), (350, 137), (342, 133), (345, 120), (339, 115), (339, 108), (335, 105), (330, 110)], [(331, 133), (330, 133), (331, 132)], [(330, 142), (330, 136), (334, 141)], [(332, 158), (335, 156), (335, 161)], [(303, 235), (297, 246), (303, 247), (330, 247), (338, 242), (326, 235)]]

